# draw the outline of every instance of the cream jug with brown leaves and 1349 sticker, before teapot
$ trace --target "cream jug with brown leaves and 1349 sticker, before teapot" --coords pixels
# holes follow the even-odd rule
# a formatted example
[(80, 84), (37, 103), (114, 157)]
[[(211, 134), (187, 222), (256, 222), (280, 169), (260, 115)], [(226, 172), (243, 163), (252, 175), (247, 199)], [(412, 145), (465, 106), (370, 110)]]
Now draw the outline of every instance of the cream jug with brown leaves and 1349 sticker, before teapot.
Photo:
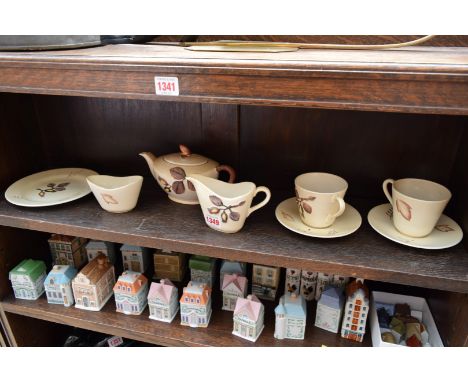
[[(239, 231), (245, 219), (268, 203), (271, 197), (266, 187), (257, 187), (252, 182), (230, 184), (203, 175), (188, 176), (197, 192), (200, 207), (208, 227), (226, 233)], [(257, 193), (266, 194), (265, 199), (251, 207)]]

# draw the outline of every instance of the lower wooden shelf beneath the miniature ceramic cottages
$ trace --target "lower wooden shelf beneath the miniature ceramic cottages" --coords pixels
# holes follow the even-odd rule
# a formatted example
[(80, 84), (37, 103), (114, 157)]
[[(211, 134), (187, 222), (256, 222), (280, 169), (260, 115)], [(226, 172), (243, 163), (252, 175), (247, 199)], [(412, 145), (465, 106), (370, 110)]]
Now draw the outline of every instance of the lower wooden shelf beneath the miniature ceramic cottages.
[(264, 304), (265, 328), (257, 342), (252, 343), (232, 335), (232, 312), (221, 310), (221, 304), (216, 300), (208, 328), (182, 326), (180, 314), (170, 324), (151, 320), (148, 318), (148, 308), (139, 316), (117, 313), (113, 297), (99, 312), (48, 304), (44, 296), (36, 301), (27, 301), (16, 300), (11, 295), (0, 303), (5, 312), (163, 346), (372, 346), (370, 333), (366, 333), (363, 343), (357, 343), (316, 328), (315, 303), (309, 303), (306, 338), (303, 341), (276, 340), (273, 337), (275, 305), (269, 302)]

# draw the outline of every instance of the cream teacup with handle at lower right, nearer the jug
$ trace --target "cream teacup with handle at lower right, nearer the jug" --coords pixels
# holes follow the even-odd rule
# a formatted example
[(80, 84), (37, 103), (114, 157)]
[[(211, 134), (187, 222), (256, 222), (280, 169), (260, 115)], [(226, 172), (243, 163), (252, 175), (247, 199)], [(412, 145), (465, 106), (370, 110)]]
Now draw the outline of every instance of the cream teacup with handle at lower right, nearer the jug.
[(331, 226), (342, 215), (346, 205), (343, 200), (348, 183), (337, 175), (309, 172), (299, 175), (296, 201), (302, 222), (313, 228)]

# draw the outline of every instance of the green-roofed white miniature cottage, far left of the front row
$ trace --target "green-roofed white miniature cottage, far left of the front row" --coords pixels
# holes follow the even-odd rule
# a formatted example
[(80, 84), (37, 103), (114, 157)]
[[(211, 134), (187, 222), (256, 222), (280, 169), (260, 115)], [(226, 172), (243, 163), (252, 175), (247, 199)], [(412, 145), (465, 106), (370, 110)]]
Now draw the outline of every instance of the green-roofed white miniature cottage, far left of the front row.
[(9, 274), (15, 298), (37, 300), (44, 293), (46, 266), (41, 260), (23, 260)]

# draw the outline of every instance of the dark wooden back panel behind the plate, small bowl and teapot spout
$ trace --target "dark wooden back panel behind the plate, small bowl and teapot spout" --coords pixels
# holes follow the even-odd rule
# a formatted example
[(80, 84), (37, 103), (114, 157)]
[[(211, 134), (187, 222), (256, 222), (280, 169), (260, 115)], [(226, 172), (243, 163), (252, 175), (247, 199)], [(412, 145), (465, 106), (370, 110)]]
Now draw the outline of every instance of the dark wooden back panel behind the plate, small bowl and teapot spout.
[(81, 97), (35, 96), (49, 167), (78, 164), (102, 174), (149, 174), (138, 153), (199, 151), (200, 105)]

